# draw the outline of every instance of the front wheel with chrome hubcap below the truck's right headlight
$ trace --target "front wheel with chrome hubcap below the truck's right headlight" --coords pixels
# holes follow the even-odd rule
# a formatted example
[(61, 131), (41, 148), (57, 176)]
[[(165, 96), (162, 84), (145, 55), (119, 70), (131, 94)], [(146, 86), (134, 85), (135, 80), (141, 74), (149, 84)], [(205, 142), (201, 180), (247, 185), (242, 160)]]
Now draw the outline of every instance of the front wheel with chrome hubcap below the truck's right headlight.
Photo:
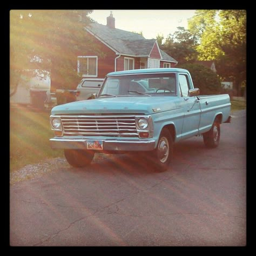
[(159, 136), (156, 150), (153, 153), (154, 162), (158, 171), (166, 171), (172, 161), (173, 141), (170, 131), (164, 128)]

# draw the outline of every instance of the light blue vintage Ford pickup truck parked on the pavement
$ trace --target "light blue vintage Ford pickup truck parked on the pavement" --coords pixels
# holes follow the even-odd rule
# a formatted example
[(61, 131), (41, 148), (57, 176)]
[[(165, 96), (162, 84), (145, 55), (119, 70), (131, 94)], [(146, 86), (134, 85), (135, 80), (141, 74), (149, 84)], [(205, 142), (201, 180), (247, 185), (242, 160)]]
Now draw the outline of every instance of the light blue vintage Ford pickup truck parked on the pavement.
[(111, 72), (95, 99), (53, 107), (50, 143), (74, 167), (89, 165), (97, 152), (137, 152), (165, 171), (180, 140), (203, 135), (207, 147), (217, 147), (230, 110), (228, 95), (200, 95), (185, 69)]

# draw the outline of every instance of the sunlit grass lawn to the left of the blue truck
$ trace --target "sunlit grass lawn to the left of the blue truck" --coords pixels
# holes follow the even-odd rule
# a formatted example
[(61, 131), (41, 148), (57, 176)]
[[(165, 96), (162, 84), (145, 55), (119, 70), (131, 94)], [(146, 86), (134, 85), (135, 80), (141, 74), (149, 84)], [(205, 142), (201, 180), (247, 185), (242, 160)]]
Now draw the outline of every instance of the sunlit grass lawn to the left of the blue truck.
[(49, 112), (10, 109), (10, 171), (47, 158), (63, 157), (63, 150), (52, 150), (53, 137)]

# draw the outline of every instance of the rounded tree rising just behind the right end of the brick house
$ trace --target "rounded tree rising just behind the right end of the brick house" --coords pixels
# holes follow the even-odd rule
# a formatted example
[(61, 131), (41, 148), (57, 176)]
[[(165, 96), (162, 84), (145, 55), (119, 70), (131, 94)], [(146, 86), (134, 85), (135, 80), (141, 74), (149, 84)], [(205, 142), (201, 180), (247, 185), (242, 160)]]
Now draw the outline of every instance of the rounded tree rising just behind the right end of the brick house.
[(196, 37), (183, 27), (178, 27), (173, 34), (169, 34), (161, 49), (177, 59), (178, 62), (193, 62), (197, 58)]

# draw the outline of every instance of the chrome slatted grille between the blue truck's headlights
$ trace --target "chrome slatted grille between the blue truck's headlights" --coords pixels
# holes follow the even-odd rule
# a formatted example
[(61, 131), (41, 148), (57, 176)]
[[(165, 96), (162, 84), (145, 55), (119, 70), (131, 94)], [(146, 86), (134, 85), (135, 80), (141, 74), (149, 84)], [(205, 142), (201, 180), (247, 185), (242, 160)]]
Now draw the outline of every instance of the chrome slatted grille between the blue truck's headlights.
[(138, 137), (134, 116), (61, 116), (64, 135)]

